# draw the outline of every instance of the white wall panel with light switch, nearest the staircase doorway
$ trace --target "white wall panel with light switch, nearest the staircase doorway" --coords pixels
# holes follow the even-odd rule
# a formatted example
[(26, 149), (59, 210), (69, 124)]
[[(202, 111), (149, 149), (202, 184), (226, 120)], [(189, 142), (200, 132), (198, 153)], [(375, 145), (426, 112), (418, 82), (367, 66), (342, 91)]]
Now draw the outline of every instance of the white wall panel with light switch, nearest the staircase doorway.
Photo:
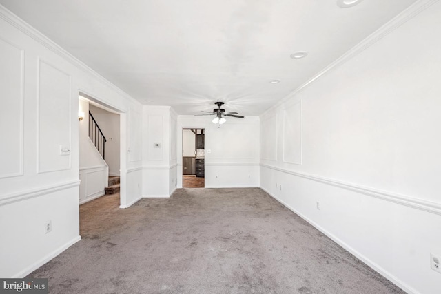
[(70, 169), (72, 78), (40, 60), (38, 79), (38, 172)]

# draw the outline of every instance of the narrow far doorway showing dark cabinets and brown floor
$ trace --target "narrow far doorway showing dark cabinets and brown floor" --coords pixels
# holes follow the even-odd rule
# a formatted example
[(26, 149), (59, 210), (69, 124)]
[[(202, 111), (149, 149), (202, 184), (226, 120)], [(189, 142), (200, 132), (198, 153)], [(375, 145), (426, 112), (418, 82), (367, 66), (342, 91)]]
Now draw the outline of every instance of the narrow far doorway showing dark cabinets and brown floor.
[(182, 130), (183, 188), (205, 187), (205, 129)]

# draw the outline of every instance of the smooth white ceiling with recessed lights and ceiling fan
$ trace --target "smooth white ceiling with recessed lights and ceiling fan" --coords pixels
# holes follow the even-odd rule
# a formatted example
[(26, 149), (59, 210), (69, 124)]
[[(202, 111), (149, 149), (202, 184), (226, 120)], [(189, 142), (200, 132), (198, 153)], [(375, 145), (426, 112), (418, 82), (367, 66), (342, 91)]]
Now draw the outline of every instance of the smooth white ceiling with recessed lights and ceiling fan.
[[(0, 3), (145, 105), (197, 114), (225, 101), (246, 116), (262, 114), (415, 1)], [(308, 55), (291, 59), (297, 51)]]

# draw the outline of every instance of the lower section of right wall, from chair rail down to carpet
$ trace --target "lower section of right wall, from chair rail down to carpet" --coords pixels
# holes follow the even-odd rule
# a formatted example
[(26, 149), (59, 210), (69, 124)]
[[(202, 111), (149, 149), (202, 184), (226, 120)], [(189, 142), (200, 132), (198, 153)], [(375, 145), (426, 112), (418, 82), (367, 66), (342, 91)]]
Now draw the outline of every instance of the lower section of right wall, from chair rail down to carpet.
[(410, 196), (402, 202), (378, 198), (373, 187), (357, 190), (338, 180), (263, 165), (260, 178), (267, 193), (407, 293), (429, 293), (409, 284), (416, 276), (427, 285), (439, 281), (429, 264), (430, 253), (441, 244), (441, 236), (432, 233), (441, 224), (434, 205), (410, 204)]

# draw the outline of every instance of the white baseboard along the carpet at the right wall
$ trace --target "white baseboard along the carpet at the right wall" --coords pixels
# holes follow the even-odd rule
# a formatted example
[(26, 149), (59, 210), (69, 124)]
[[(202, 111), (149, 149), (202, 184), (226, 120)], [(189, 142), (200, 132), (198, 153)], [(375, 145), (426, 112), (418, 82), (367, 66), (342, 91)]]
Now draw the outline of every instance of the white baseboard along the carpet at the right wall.
[(391, 275), (391, 273), (389, 273), (388, 271), (383, 269), (381, 266), (379, 266), (375, 262), (371, 261), (369, 258), (366, 258), (365, 255), (362, 255), (361, 253), (359, 253), (358, 251), (353, 249), (351, 246), (349, 246), (348, 244), (346, 244), (345, 242), (343, 242), (342, 240), (337, 238), (334, 234), (329, 233), (329, 231), (327, 231), (327, 230), (323, 229), (322, 227), (320, 227), (318, 224), (316, 224), (316, 222), (310, 220), (309, 218), (307, 218), (306, 216), (302, 215), (302, 213), (298, 212), (293, 207), (290, 207), (286, 202), (284, 202), (283, 200), (280, 200), (279, 198), (277, 198), (276, 196), (271, 194), (271, 192), (267, 191), (263, 187), (260, 187), (260, 189), (263, 189), (263, 191), (268, 193), (269, 196), (271, 196), (272, 198), (274, 198), (275, 200), (277, 200), (278, 202), (283, 204), (283, 206), (287, 207), (287, 209), (289, 209), (292, 212), (296, 213), (298, 216), (300, 216), (300, 218), (302, 218), (302, 219), (306, 220), (307, 222), (309, 222), (309, 224), (311, 224), (313, 227), (318, 229), (318, 231), (320, 231), (320, 232), (324, 233), (325, 235), (327, 235), (327, 237), (329, 237), (331, 240), (333, 240), (334, 242), (336, 242), (337, 244), (342, 246), (345, 250), (349, 251), (356, 258), (358, 258), (359, 260), (361, 260), (362, 262), (364, 262), (365, 264), (370, 266), (371, 269), (373, 269), (376, 272), (380, 273), (380, 275), (382, 275), (383, 277), (386, 277), (388, 280), (393, 282), (393, 284), (396, 284), (396, 286), (402, 288), (402, 290), (404, 290), (405, 292), (407, 292), (407, 293), (418, 293), (418, 291), (416, 291), (415, 289), (411, 288), (409, 285), (405, 284), (404, 282), (399, 280), (394, 275)]

